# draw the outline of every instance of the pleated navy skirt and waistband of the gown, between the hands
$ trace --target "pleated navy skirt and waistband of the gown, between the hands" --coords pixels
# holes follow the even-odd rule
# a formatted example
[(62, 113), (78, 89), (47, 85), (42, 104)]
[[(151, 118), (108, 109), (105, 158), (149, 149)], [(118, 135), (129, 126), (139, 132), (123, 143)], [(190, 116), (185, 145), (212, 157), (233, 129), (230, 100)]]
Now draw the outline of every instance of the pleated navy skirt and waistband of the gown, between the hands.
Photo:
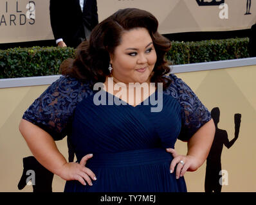
[(67, 181), (64, 192), (187, 192), (184, 177), (170, 173), (171, 161), (161, 148), (94, 154), (86, 164), (97, 177), (93, 186)]

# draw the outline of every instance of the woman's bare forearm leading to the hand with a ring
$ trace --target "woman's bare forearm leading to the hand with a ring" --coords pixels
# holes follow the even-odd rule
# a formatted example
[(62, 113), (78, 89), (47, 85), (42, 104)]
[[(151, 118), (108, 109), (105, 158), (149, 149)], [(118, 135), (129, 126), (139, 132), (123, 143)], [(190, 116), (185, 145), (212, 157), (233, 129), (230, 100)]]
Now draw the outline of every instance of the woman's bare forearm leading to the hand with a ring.
[(188, 156), (194, 156), (198, 160), (198, 167), (205, 162), (215, 135), (215, 126), (213, 120), (206, 122), (193, 136), (188, 140)]

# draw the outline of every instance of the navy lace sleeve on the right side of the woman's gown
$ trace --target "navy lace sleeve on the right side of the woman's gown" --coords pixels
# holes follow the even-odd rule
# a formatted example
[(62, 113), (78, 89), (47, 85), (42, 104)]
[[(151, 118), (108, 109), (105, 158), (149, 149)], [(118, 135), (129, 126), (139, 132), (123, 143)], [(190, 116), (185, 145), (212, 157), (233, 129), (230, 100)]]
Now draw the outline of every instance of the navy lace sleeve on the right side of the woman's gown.
[(174, 74), (169, 77), (172, 78), (172, 92), (175, 90), (172, 96), (175, 96), (181, 105), (181, 132), (178, 139), (187, 142), (212, 117), (210, 111), (184, 81)]

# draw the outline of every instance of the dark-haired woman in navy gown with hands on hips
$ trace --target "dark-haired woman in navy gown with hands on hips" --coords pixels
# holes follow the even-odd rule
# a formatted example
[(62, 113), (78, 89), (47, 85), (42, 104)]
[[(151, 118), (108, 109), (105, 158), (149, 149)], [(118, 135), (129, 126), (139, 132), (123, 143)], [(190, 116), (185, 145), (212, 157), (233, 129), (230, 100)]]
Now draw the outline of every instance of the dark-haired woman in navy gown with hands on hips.
[[(157, 29), (149, 12), (118, 10), (24, 113), (22, 135), (35, 158), (67, 181), (65, 192), (187, 192), (185, 172), (206, 160), (215, 132), (210, 112), (167, 75), (170, 42)], [(93, 90), (100, 82), (102, 90)], [(130, 92), (136, 88), (143, 92)], [(154, 96), (162, 102), (157, 111)], [(66, 135), (77, 163), (55, 145)], [(187, 156), (174, 150), (177, 138), (188, 142)]]

